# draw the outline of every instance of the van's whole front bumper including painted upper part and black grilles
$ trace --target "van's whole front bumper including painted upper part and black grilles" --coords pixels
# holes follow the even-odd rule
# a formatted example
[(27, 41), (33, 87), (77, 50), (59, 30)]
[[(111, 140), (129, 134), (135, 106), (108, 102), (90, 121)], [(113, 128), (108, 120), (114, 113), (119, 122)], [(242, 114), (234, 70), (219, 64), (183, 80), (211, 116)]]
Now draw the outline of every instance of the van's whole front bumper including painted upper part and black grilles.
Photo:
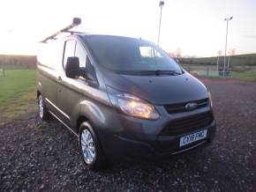
[[(106, 108), (104, 121), (94, 123), (106, 156), (109, 159), (162, 159), (207, 144), (215, 137), (216, 122), (210, 106), (177, 114), (169, 114), (162, 106), (156, 109), (161, 116), (150, 121)], [(179, 147), (180, 137), (202, 129), (207, 129), (205, 139)]]

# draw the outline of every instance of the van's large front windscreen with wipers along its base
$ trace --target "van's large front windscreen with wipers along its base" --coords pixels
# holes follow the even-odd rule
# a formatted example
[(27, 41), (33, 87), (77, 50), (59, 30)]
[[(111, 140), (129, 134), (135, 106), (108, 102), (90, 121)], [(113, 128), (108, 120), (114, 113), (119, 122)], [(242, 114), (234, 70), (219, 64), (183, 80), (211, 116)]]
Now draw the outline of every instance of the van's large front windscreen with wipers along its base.
[(181, 74), (178, 64), (162, 48), (149, 41), (117, 36), (85, 37), (97, 62), (120, 73), (136, 71), (174, 71)]

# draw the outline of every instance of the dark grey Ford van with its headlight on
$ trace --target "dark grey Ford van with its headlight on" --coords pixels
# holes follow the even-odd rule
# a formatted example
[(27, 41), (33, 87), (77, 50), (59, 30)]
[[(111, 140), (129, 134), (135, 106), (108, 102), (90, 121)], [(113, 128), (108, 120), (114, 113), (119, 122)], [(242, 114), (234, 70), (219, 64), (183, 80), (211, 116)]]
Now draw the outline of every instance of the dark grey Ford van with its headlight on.
[(162, 48), (141, 39), (73, 33), (38, 55), (41, 120), (79, 137), (85, 164), (163, 159), (215, 136), (211, 95)]

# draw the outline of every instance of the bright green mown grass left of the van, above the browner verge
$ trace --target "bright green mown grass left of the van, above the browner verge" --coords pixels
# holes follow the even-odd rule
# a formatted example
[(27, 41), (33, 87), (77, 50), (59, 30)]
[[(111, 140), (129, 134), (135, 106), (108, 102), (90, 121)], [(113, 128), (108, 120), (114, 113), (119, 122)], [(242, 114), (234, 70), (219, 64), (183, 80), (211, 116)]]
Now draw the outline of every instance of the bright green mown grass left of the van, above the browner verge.
[(35, 70), (5, 70), (5, 77), (0, 71), (0, 105), (16, 100), (24, 92), (35, 88)]

